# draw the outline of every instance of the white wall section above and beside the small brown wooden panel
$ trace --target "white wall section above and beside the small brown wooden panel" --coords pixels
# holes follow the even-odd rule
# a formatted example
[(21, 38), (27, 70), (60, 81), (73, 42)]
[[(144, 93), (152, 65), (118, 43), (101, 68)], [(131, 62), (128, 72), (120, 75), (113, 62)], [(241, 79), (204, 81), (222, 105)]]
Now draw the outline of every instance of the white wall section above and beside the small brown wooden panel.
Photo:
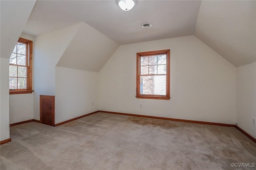
[(55, 66), (78, 31), (79, 24), (34, 39), (34, 119), (40, 119), (40, 95), (55, 95)]

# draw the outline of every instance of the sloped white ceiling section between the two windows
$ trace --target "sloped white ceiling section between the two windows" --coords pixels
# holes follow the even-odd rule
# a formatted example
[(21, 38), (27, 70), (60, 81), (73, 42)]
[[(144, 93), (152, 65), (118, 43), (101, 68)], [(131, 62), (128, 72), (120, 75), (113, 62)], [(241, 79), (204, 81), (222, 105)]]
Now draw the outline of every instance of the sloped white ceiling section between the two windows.
[(98, 72), (118, 46), (90, 25), (81, 22), (56, 66)]

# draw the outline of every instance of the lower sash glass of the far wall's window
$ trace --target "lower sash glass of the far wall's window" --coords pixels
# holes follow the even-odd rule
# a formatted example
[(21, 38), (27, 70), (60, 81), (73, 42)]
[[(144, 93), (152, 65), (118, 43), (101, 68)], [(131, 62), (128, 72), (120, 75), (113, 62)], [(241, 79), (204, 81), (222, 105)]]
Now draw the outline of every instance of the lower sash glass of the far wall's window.
[(166, 95), (166, 76), (140, 76), (140, 94)]

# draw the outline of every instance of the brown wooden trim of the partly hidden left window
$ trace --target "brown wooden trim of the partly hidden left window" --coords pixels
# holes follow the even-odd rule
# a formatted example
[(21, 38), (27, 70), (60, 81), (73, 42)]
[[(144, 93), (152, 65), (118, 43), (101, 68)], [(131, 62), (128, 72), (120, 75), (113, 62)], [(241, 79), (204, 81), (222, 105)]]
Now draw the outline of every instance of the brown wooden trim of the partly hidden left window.
[(18, 42), (22, 43), (27, 43), (27, 55), (28, 60), (26, 62), (27, 64), (27, 89), (10, 89), (9, 94), (29, 94), (32, 93), (34, 90), (32, 90), (32, 64), (33, 64), (33, 41), (24, 39), (24, 38), (19, 38)]

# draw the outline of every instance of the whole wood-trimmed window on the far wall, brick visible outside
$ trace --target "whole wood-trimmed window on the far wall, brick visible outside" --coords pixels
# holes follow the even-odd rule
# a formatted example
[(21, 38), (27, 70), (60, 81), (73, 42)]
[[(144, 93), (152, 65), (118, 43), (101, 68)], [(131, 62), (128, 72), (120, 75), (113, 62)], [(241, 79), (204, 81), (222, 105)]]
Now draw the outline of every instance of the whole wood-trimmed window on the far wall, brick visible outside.
[(136, 98), (170, 100), (170, 49), (137, 53)]

